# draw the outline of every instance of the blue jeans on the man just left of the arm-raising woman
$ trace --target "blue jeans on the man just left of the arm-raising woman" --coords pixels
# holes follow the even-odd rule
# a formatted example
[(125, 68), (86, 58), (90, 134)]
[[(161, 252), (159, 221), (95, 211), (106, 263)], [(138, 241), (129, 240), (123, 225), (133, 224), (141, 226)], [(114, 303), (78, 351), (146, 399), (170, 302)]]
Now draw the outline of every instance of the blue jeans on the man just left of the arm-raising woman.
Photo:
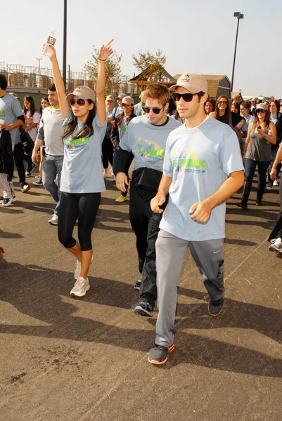
[[(42, 163), (42, 182), (47, 190), (57, 202), (54, 213), (58, 215), (58, 207), (60, 206), (60, 175), (63, 168), (63, 155), (45, 154)], [(54, 181), (58, 174), (58, 185)]]

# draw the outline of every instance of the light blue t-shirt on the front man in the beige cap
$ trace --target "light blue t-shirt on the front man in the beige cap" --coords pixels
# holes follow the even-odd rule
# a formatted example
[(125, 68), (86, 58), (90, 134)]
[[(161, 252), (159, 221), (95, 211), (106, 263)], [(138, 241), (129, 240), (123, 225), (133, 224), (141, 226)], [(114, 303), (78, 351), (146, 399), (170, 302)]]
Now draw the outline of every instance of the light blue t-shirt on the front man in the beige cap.
[(160, 229), (180, 239), (204, 241), (225, 236), (225, 203), (212, 209), (206, 224), (195, 222), (189, 209), (222, 186), (230, 173), (243, 170), (236, 133), (207, 116), (198, 127), (182, 125), (167, 139), (163, 173), (172, 177), (169, 203)]

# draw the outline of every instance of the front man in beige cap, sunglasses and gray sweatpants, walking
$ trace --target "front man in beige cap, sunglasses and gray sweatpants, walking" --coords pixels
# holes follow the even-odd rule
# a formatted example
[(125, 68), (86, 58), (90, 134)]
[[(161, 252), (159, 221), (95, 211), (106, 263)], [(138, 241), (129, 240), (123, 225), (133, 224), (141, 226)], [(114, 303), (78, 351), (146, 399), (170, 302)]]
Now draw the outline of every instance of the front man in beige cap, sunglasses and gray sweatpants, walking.
[(210, 315), (222, 312), (225, 201), (244, 182), (236, 134), (205, 114), (206, 79), (184, 73), (170, 90), (185, 124), (167, 139), (162, 180), (151, 201), (153, 212), (163, 213), (155, 245), (159, 313), (149, 352), (149, 362), (158, 365), (174, 349), (177, 283), (188, 248), (210, 295)]

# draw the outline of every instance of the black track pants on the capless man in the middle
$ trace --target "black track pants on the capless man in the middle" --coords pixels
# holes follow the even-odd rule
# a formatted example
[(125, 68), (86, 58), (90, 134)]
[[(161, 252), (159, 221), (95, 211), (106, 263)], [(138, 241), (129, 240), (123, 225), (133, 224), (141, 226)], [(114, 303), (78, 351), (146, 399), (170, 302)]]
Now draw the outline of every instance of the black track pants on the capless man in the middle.
[(150, 208), (150, 201), (155, 194), (155, 190), (146, 187), (131, 187), (129, 202), (129, 218), (136, 235), (139, 272), (142, 274), (140, 299), (149, 302), (152, 307), (157, 299), (155, 241), (162, 220), (162, 213), (153, 213)]

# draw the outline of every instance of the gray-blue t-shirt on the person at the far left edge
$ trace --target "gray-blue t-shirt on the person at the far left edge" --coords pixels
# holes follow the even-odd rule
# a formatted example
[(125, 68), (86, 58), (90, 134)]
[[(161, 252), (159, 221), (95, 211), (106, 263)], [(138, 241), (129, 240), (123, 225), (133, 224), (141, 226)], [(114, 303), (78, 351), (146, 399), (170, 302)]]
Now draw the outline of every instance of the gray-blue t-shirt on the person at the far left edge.
[[(10, 95), (10, 93), (6, 93), (6, 95), (0, 98), (0, 120), (4, 120), (5, 124), (13, 124), (20, 116), (23, 116), (20, 101), (13, 95)], [(10, 135), (13, 147), (16, 143), (20, 143), (18, 128), (10, 130)]]

